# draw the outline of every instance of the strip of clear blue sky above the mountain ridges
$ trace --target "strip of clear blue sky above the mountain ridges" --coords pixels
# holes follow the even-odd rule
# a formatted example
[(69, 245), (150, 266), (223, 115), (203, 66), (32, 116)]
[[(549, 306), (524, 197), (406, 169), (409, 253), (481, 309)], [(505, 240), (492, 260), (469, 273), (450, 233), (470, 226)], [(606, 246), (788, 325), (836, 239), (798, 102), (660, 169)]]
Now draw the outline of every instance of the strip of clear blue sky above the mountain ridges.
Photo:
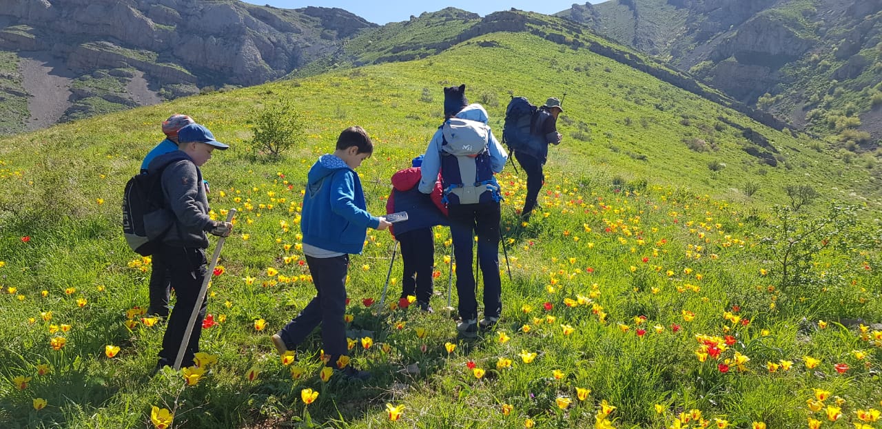
[[(507, 11), (516, 8), (522, 11), (536, 11), (545, 14), (557, 13), (570, 9), (572, 4), (585, 4), (586, 0), (483, 0), (483, 1), (460, 1), (460, 0), (246, 0), (250, 4), (269, 4), (283, 9), (298, 9), (306, 6), (339, 7), (355, 15), (367, 19), (376, 24), (406, 21), (411, 15), (419, 16), (424, 11), (439, 11), (445, 7), (455, 7), (464, 11), (472, 11), (481, 16), (495, 11)], [(591, 0), (592, 4), (602, 3), (602, 0)]]

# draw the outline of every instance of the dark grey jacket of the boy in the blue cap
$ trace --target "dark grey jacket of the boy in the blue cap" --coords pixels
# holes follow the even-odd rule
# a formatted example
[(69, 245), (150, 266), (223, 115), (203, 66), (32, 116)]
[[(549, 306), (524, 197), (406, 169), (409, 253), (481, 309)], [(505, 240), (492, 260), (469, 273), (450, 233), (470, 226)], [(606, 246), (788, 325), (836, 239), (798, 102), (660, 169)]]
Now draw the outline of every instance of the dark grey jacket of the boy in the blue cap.
[(173, 221), (162, 242), (174, 247), (207, 248), (206, 231), (213, 228), (214, 222), (208, 216), (208, 196), (202, 184), (202, 171), (190, 155), (180, 150), (157, 156), (147, 169), (155, 172), (163, 168), (162, 193)]

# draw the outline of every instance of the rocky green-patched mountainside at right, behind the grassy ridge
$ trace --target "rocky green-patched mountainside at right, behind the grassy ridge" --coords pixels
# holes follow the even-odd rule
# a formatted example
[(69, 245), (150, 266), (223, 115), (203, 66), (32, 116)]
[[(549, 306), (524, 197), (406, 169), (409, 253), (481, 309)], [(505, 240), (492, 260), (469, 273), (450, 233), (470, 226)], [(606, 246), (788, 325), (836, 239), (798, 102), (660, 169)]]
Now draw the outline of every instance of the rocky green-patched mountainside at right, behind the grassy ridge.
[(609, 0), (557, 16), (833, 147), (871, 149), (882, 139), (882, 0)]

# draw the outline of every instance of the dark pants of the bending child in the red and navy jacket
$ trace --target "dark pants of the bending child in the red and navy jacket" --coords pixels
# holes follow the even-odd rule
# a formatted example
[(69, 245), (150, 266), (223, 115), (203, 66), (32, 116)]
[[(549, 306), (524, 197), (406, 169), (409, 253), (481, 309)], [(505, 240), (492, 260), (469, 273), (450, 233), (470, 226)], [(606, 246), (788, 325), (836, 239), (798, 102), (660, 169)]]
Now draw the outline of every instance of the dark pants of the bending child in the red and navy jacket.
[(431, 228), (420, 228), (396, 234), (404, 260), (401, 297), (414, 295), (423, 303), (432, 297), (432, 267), (435, 265), (435, 239)]

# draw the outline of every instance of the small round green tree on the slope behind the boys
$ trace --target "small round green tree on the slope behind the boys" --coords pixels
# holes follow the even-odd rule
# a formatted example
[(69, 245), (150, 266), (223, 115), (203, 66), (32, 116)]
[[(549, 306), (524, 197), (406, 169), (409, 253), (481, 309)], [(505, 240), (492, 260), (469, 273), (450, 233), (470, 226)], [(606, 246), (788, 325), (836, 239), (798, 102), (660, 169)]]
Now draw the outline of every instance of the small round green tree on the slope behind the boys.
[(302, 138), (303, 120), (287, 100), (264, 106), (254, 120), (251, 143), (270, 156), (279, 156)]

